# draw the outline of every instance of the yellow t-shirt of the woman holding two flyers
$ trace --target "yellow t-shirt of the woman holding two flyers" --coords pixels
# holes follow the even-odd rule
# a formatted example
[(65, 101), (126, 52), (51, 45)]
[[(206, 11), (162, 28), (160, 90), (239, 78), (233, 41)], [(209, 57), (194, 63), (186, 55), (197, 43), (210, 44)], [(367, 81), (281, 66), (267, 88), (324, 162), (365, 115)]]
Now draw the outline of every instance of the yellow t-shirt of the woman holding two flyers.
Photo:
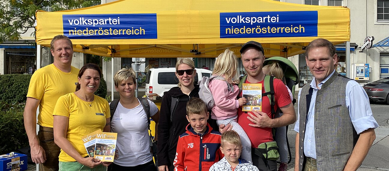
[[(98, 129), (103, 131), (107, 118), (111, 117), (109, 104), (104, 98), (95, 95), (91, 103), (78, 98), (74, 93), (68, 93), (57, 100), (53, 115), (69, 117), (66, 138), (82, 157), (88, 156), (88, 152), (82, 142), (82, 136)], [(66, 154), (62, 149), (61, 162), (74, 162), (75, 159)]]

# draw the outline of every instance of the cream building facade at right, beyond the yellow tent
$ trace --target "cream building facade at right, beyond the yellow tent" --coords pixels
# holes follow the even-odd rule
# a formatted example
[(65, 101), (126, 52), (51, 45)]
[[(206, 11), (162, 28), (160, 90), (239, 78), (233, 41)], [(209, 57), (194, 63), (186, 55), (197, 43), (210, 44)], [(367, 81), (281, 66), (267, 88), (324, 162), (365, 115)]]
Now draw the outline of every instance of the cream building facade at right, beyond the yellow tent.
[[(369, 64), (370, 73), (368, 80), (356, 80), (359, 83), (376, 81), (380, 78), (389, 77), (389, 0), (278, 0), (288, 3), (299, 3), (307, 5), (331, 5), (347, 6), (350, 9), (350, 62), (351, 64)], [(370, 49), (361, 51), (364, 39), (367, 36), (374, 36), (373, 45)], [(345, 62), (345, 45), (336, 45), (338, 58), (338, 71), (345, 73), (343, 66)], [(312, 75), (305, 64), (305, 55), (300, 54), (289, 57), (300, 71), (300, 85), (309, 83)], [(340, 68), (344, 67), (344, 68)], [(356, 73), (351, 68), (351, 77), (355, 79)], [(296, 86), (298, 87), (298, 86)], [(301, 87), (301, 86), (300, 86)]]

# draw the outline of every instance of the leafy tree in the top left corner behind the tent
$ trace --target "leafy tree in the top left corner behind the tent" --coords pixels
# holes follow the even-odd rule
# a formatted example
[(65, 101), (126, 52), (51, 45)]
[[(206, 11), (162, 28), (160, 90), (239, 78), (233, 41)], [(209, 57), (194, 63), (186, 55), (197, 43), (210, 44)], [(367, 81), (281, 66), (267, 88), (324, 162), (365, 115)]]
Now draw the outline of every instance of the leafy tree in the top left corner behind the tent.
[[(0, 43), (21, 40), (28, 29), (35, 30), (37, 10), (69, 10), (100, 3), (100, 0), (0, 0)], [(35, 37), (35, 31), (32, 34)]]

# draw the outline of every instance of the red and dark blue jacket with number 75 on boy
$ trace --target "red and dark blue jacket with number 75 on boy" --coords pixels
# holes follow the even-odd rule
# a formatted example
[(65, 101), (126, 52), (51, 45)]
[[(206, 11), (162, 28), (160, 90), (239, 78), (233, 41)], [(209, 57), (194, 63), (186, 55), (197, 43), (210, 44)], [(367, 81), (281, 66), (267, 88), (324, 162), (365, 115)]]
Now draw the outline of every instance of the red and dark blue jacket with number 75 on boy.
[(188, 124), (186, 132), (178, 139), (174, 171), (209, 171), (214, 163), (224, 157), (220, 144), (221, 133), (212, 130), (208, 123), (203, 135), (196, 133)]

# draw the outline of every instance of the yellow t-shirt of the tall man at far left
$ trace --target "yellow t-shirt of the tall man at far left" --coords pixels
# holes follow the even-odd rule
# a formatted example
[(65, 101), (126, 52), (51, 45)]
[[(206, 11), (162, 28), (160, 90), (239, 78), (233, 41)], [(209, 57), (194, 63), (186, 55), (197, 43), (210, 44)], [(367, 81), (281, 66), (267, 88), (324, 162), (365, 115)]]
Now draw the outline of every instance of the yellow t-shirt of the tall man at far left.
[(64, 73), (50, 64), (35, 71), (28, 86), (27, 97), (40, 100), (38, 124), (53, 128), (53, 110), (58, 98), (75, 92), (79, 69), (72, 66), (70, 73)]

